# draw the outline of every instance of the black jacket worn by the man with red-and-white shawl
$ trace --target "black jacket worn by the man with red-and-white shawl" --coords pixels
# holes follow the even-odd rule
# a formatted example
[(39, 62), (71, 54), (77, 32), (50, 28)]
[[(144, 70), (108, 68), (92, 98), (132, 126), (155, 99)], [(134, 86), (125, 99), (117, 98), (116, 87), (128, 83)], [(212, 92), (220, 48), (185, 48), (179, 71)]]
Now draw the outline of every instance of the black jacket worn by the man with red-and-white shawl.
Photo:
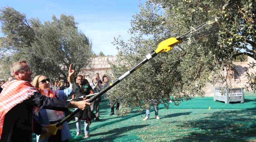
[[(1, 142), (32, 142), (33, 108), (68, 110), (69, 101), (61, 101), (35, 92), (29, 99), (17, 104), (4, 117)], [(41, 133), (41, 127), (34, 123), (34, 132)]]

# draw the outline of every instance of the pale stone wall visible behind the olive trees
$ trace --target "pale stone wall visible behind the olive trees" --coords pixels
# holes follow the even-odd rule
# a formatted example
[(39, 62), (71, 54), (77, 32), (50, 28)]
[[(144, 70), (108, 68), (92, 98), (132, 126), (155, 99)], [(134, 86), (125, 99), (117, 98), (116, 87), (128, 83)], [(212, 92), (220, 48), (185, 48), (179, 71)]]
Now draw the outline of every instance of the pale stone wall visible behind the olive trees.
[[(112, 71), (110, 70), (110, 65), (108, 64), (107, 61), (117, 64), (116, 62), (116, 56), (110, 56), (110, 57), (95, 57), (92, 59), (92, 64), (90, 66), (87, 66), (84, 70), (80, 72), (80, 74), (84, 73), (85, 78), (89, 81), (92, 82), (93, 76), (95, 76), (96, 73), (99, 73), (100, 79), (103, 81), (102, 86), (107, 86), (109, 80), (115, 80), (116, 78), (112, 78)], [(244, 87), (247, 85), (248, 79), (245, 76), (245, 67), (248, 67), (250, 62), (255, 62), (256, 61), (248, 56), (248, 61), (247, 62), (234, 62), (233, 64), (235, 65), (235, 69), (238, 73), (238, 75), (235, 75), (233, 78), (230, 78), (231, 80), (231, 85), (232, 87)], [(249, 73), (254, 73), (256, 72), (255, 69), (249, 69)], [(226, 76), (230, 72), (227, 73), (227, 71), (223, 72), (223, 75)], [(231, 72), (232, 73), (232, 72)], [(220, 84), (215, 84), (215, 86), (220, 86)], [(205, 96), (213, 96), (213, 85), (207, 84), (204, 91), (205, 91)], [(246, 91), (244, 89), (244, 91)], [(252, 91), (249, 88), (249, 91)]]

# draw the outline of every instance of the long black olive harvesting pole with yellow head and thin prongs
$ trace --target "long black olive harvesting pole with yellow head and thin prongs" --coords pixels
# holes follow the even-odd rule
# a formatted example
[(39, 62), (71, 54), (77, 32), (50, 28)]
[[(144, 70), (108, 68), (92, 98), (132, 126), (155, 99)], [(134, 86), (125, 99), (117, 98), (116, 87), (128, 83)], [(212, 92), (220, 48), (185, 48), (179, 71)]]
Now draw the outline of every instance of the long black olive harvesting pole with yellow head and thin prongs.
[[(189, 32), (179, 36), (178, 38), (171, 37), (169, 39), (166, 39), (166, 40), (160, 42), (158, 47), (157, 47), (157, 49), (153, 53), (146, 55), (146, 58), (144, 58), (140, 63), (138, 63), (137, 65), (132, 67), (132, 69), (130, 69), (129, 71), (125, 72), (122, 76), (117, 78), (114, 82), (109, 84), (106, 88), (101, 90), (98, 94), (94, 95), (88, 102), (92, 103), (97, 98), (99, 98), (102, 94), (106, 93), (112, 87), (116, 86), (124, 78), (126, 78), (127, 76), (132, 74), (134, 71), (136, 71), (140, 66), (142, 66), (145, 63), (147, 63), (149, 60), (151, 60), (152, 58), (154, 58), (158, 54), (161, 54), (161, 53), (164, 53), (164, 52), (169, 52), (170, 50), (173, 49), (173, 47), (176, 44), (181, 43), (182, 41), (187, 41), (191, 37), (199, 37), (199, 36), (203, 36), (203, 35), (206, 35), (206, 34), (215, 33), (219, 28), (212, 28), (210, 30), (204, 30), (204, 28), (206, 26), (209, 26), (209, 25), (211, 25), (214, 22), (216, 22), (216, 20), (214, 20), (214, 19), (210, 20), (210, 21), (207, 21), (207, 22), (203, 23), (202, 25), (197, 26), (196, 28), (190, 30)], [(49, 126), (49, 132), (42, 134), (40, 136), (40, 139), (44, 139), (45, 137), (48, 137), (50, 135), (55, 135), (57, 130), (58, 130), (58, 127), (60, 125), (62, 125), (63, 123), (65, 123), (66, 121), (69, 121), (69, 120), (73, 119), (75, 114), (78, 113), (79, 111), (80, 111), (79, 109), (76, 109), (70, 115), (66, 116), (63, 120), (61, 120), (60, 123), (50, 125)]]

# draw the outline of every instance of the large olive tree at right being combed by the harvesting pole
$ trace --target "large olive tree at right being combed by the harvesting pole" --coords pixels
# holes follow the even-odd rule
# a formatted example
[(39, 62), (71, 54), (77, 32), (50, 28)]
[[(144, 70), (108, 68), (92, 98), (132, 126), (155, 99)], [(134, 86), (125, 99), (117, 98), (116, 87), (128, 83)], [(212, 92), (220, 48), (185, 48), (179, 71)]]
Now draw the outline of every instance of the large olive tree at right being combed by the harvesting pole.
[(196, 95), (203, 97), (207, 83), (226, 82), (228, 86), (220, 72), (234, 69), (234, 58), (248, 55), (256, 59), (255, 0), (147, 0), (139, 7), (140, 12), (131, 20), (130, 40), (115, 38), (123, 55), (118, 60), (127, 64), (112, 64), (114, 78), (142, 61), (165, 39), (178, 37), (210, 19), (217, 21), (213, 26), (220, 30), (178, 44), (113, 87), (108, 98), (121, 101), (122, 114), (135, 107), (146, 108), (154, 99), (168, 107), (170, 99), (178, 105)]

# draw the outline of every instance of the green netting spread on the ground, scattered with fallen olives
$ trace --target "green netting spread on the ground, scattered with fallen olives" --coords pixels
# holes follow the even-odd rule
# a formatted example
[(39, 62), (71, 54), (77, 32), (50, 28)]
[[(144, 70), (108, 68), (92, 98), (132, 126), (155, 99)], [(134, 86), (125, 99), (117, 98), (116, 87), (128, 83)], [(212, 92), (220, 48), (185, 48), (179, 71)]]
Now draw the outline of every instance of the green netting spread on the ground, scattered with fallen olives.
[(174, 103), (169, 109), (160, 105), (161, 119), (155, 119), (152, 109), (147, 121), (141, 117), (145, 117), (145, 111), (139, 113), (134, 110), (125, 117), (109, 116), (108, 101), (102, 101), (101, 121), (91, 124), (90, 138), (75, 136), (76, 125), (71, 121), (69, 126), (73, 137), (70, 141), (256, 141), (256, 95), (244, 98), (244, 103), (225, 104), (213, 101), (213, 97), (196, 97), (180, 103), (178, 107)]

